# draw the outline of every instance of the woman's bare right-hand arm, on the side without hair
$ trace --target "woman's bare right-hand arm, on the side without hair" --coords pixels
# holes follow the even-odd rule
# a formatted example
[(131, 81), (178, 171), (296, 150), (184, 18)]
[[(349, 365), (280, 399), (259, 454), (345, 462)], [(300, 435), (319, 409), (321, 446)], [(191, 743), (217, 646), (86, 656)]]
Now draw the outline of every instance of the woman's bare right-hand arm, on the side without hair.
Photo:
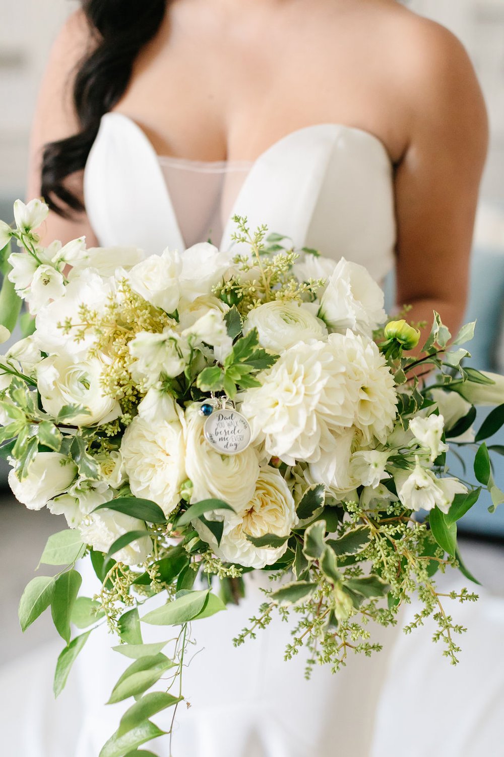
[(429, 329), (438, 310), (453, 333), (467, 298), (487, 111), (465, 49), (443, 26), (422, 20), (401, 45), (410, 139), (395, 179), (397, 304), (413, 305), (408, 319)]

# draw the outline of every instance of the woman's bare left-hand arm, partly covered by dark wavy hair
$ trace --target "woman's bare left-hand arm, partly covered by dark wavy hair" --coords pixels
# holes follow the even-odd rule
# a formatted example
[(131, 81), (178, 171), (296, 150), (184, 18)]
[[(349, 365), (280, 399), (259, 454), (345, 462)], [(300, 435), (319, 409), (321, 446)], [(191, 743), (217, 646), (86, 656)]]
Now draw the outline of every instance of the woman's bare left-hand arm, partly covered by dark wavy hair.
[[(66, 21), (51, 51), (45, 76), (37, 101), (32, 125), (27, 197), (39, 197), (42, 151), (47, 142), (63, 139), (79, 131), (79, 123), (73, 107), (73, 75), (80, 59), (91, 45), (88, 25), (81, 11)], [(67, 179), (66, 184), (82, 197), (82, 172)], [(88, 247), (96, 245), (85, 213), (66, 220), (49, 213), (42, 241), (60, 239), (63, 245), (76, 237), (85, 235)]]

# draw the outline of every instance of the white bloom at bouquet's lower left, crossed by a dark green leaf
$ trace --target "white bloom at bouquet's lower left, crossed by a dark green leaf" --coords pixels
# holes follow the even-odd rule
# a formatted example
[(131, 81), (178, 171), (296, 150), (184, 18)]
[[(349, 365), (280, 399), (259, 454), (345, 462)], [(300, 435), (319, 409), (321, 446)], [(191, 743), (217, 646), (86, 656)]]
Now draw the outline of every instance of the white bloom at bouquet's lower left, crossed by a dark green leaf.
[(116, 539), (128, 531), (144, 531), (145, 536), (132, 541), (127, 547), (116, 552), (114, 559), (126, 565), (139, 565), (147, 559), (152, 550), (152, 540), (145, 529), (143, 521), (126, 516), (115, 510), (99, 510), (86, 516), (79, 528), (82, 541), (91, 544), (94, 550), (108, 552)]

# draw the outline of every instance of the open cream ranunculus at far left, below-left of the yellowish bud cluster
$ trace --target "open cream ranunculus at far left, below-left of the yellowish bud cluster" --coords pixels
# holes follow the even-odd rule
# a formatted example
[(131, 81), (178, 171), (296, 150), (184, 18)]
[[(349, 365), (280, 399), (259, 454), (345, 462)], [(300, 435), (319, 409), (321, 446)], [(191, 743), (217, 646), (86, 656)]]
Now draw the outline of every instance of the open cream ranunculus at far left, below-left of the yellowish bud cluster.
[(108, 423), (121, 414), (119, 402), (104, 394), (101, 375), (106, 363), (99, 357), (75, 362), (61, 352), (42, 360), (36, 366), (37, 387), (42, 407), (46, 413), (56, 417), (65, 405), (82, 405), (89, 413), (73, 416), (75, 425), (95, 425)]

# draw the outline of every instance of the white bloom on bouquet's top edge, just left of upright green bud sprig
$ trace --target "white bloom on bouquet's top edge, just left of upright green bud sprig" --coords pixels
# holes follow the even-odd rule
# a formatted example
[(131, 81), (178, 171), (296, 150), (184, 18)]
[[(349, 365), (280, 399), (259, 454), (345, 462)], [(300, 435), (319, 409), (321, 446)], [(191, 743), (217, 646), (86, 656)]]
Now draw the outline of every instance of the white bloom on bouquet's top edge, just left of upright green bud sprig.
[(182, 256), (181, 293), (189, 301), (212, 294), (231, 263), (230, 254), (219, 252), (209, 242), (199, 242)]

